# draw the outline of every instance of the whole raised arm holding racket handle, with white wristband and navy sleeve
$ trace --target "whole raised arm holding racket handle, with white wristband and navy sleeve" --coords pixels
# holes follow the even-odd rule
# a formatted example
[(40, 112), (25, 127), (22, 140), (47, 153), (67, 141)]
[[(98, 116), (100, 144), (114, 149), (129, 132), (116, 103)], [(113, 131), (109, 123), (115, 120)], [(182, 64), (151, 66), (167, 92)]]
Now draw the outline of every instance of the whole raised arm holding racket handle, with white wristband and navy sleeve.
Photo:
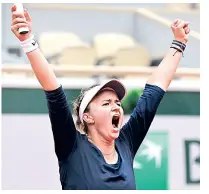
[[(52, 131), (55, 142), (55, 152), (59, 161), (64, 160), (70, 154), (76, 141), (76, 128), (67, 103), (65, 93), (58, 83), (52, 67), (38, 48), (38, 44), (32, 35), (32, 20), (28, 11), (24, 15), (16, 12), (15, 5), (11, 8), (11, 30), (19, 39), (23, 51), (26, 53), (32, 69), (43, 87)], [(25, 16), (25, 17), (24, 17)], [(19, 34), (20, 27), (28, 27), (29, 33)]]

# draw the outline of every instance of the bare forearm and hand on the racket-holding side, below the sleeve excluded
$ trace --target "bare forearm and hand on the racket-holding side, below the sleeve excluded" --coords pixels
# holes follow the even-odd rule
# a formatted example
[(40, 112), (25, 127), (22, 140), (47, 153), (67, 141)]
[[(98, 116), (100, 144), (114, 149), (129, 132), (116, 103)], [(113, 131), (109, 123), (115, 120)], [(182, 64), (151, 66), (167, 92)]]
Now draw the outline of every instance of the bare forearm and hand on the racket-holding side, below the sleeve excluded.
[[(19, 39), (20, 44), (27, 43), (30, 38), (32, 38), (32, 20), (28, 13), (25, 10), (24, 15), (16, 12), (16, 6), (13, 5), (11, 8), (12, 11), (12, 25), (11, 30), (15, 34), (15, 36)], [(24, 17), (25, 16), (25, 17)], [(28, 27), (29, 32), (27, 34), (19, 34), (18, 29), (20, 27)], [(32, 41), (32, 40), (31, 40)], [(32, 42), (31, 42), (32, 43)], [(30, 43), (28, 43), (30, 44)], [(36, 43), (37, 44), (37, 43)], [(26, 45), (27, 46), (27, 45)], [(25, 46), (25, 47), (26, 47)], [(34, 48), (33, 48), (34, 47)], [(30, 50), (31, 49), (31, 50)], [(35, 49), (35, 50), (33, 50)], [(57, 89), (60, 84), (58, 83), (56, 76), (53, 72), (52, 67), (48, 64), (44, 55), (40, 51), (40, 49), (36, 45), (31, 44), (31, 48), (28, 49), (26, 55), (31, 63), (33, 71), (40, 82), (41, 86), (44, 90), (50, 91)]]

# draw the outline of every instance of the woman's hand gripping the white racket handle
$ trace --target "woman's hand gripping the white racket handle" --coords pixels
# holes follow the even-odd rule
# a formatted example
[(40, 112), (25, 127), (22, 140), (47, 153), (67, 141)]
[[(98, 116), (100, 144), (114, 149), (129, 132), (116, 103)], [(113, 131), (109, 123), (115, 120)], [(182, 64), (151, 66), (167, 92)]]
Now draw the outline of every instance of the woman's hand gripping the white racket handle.
[[(15, 36), (20, 40), (24, 41), (32, 35), (32, 20), (26, 9), (24, 9), (24, 15), (16, 12), (16, 6), (13, 5), (11, 8), (12, 11), (12, 24), (11, 30)], [(29, 32), (27, 34), (20, 34), (18, 29), (21, 27), (28, 27)]]

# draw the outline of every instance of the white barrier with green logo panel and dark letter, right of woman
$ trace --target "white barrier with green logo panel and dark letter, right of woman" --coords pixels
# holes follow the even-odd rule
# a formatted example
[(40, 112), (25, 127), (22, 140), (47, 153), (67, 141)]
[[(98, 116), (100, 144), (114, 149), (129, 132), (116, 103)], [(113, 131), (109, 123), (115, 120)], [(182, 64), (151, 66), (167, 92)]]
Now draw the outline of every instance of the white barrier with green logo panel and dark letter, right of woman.
[(199, 116), (156, 116), (134, 170), (137, 189), (199, 189)]

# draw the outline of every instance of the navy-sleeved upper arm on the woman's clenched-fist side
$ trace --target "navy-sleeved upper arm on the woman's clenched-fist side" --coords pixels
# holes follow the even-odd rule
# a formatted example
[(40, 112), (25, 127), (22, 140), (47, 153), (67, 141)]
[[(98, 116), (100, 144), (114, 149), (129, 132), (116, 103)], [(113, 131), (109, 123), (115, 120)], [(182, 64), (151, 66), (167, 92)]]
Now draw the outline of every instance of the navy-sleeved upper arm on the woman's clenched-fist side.
[(134, 155), (147, 134), (164, 93), (158, 86), (146, 84), (128, 122), (121, 129)]

